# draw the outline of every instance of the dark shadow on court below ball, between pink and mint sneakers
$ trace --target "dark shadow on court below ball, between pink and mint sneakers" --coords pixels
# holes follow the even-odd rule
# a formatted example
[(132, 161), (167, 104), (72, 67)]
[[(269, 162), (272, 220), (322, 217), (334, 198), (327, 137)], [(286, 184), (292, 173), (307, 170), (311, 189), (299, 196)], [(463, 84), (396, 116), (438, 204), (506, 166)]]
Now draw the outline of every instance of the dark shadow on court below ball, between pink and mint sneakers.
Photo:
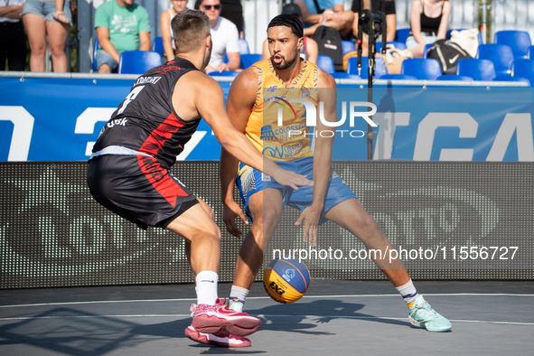
[(317, 327), (318, 323), (330, 323), (334, 319), (354, 319), (374, 323), (409, 325), (408, 322), (400, 320), (360, 313), (359, 310), (363, 306), (364, 304), (344, 303), (335, 299), (323, 299), (311, 303), (271, 305), (258, 310), (247, 310), (247, 312), (261, 318), (262, 325), (260, 330), (285, 331), (289, 333), (314, 335), (334, 334), (312, 330)]

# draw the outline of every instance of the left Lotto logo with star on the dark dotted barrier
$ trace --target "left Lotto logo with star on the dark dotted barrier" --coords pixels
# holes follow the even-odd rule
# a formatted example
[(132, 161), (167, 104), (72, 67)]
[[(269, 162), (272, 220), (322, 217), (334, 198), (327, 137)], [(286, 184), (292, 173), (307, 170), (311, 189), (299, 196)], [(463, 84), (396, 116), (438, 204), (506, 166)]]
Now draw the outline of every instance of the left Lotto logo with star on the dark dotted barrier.
[[(146, 230), (136, 229), (100, 207), (86, 185), (65, 182), (59, 173), (48, 167), (37, 179), (6, 177), (0, 181), (12, 201), (18, 201), (16, 206), (5, 207), (9, 213), (3, 214), (5, 223), (0, 225), (2, 274), (88, 276), (141, 260), (155, 251), (166, 251), (170, 263), (187, 261), (183, 241), (178, 245), (162, 242), (164, 236), (175, 241), (172, 233), (151, 230), (160, 236), (149, 238)], [(23, 236), (17, 232), (20, 230)], [(9, 279), (3, 278), (0, 287), (6, 287)]]

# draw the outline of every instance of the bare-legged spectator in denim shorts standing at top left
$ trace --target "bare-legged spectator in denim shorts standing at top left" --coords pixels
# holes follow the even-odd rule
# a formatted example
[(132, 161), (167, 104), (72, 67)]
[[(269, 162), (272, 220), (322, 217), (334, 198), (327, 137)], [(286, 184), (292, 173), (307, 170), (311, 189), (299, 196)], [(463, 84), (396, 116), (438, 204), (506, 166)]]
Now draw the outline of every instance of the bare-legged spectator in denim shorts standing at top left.
[[(65, 43), (69, 38), (70, 24), (61, 23), (52, 16), (56, 11), (54, 1), (26, 0), (23, 8), (23, 22), (30, 42), (30, 70), (44, 71), (44, 53), (46, 52), (46, 35), (48, 47), (52, 54), (52, 67), (56, 73), (67, 72), (69, 61), (65, 54)], [(72, 20), (70, 2), (63, 4), (63, 13)]]

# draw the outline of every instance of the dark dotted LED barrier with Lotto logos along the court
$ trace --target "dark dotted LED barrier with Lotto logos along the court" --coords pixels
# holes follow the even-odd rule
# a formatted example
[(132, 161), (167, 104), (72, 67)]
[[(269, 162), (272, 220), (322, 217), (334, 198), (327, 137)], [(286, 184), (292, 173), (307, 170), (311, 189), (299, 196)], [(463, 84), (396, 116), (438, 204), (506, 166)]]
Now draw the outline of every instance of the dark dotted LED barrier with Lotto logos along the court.
[[(414, 279), (534, 279), (534, 164), (335, 161), (333, 169), (394, 249), (368, 250), (332, 222), (310, 248), (295, 226), (299, 211), (286, 208), (264, 267), (293, 256), (315, 278), (380, 279), (372, 259), (398, 257)], [(86, 171), (84, 162), (0, 163), (0, 288), (193, 282), (183, 239), (100, 206)], [(230, 282), (242, 239), (222, 222), (218, 162), (172, 171), (215, 212), (220, 281)]]

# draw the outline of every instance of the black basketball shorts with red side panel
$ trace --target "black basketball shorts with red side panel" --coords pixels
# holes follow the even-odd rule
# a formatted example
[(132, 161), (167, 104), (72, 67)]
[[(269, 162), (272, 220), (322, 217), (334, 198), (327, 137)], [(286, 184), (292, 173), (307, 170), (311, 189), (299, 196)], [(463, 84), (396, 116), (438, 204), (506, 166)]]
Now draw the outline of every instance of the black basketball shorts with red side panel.
[(87, 181), (96, 201), (142, 229), (166, 228), (199, 202), (173, 173), (145, 155), (95, 157)]

